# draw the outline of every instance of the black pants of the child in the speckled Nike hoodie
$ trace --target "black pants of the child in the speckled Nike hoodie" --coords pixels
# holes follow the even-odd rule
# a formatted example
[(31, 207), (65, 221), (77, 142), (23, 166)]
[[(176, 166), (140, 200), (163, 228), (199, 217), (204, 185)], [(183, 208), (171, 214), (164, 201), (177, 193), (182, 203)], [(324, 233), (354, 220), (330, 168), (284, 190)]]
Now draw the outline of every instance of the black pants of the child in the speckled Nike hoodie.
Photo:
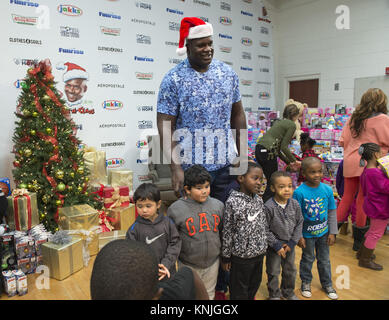
[(262, 281), (262, 254), (250, 259), (231, 257), (230, 299), (253, 300)]

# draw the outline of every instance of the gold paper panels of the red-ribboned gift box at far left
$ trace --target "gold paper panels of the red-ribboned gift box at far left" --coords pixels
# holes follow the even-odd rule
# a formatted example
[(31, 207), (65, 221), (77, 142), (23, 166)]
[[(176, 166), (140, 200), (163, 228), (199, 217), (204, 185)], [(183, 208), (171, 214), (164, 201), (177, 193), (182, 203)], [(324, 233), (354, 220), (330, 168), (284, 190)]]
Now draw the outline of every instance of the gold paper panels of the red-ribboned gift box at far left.
[(30, 197), (31, 205), (31, 227), (29, 228), (28, 221), (28, 209), (27, 209), (27, 197), (19, 196), (17, 198), (18, 205), (18, 222), (19, 228), (17, 227), (17, 222), (15, 221), (15, 208), (14, 208), (14, 198), (13, 196), (7, 197), (8, 209), (7, 209), (7, 223), (11, 230), (19, 231), (28, 231), (32, 227), (35, 227), (39, 224), (39, 213), (38, 213), (38, 203), (36, 198), (36, 193), (29, 192), (28, 196)]

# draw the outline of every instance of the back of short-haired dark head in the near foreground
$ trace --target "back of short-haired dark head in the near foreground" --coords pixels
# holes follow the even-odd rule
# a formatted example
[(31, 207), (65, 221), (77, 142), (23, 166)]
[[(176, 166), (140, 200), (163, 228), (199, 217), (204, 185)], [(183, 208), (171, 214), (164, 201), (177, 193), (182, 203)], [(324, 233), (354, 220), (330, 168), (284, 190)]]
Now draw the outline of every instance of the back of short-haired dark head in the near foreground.
[(151, 300), (158, 291), (158, 260), (143, 242), (121, 239), (104, 246), (92, 269), (92, 300)]

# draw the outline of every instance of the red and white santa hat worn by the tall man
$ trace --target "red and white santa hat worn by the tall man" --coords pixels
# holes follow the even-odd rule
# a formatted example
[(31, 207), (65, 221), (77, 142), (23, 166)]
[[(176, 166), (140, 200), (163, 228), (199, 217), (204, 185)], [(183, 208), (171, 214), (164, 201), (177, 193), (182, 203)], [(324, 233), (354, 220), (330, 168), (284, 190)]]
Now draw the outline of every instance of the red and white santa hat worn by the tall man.
[(181, 20), (180, 41), (176, 50), (179, 56), (186, 53), (185, 40), (198, 39), (213, 35), (212, 25), (196, 17), (185, 17)]

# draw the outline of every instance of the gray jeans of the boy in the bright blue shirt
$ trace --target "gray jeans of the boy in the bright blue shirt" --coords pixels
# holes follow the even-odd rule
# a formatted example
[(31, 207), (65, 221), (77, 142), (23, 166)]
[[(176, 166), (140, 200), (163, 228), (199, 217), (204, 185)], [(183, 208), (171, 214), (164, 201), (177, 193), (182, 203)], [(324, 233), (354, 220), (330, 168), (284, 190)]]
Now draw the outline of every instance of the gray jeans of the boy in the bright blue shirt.
[[(312, 282), (312, 265), (317, 258), (317, 270), (323, 288), (332, 286), (330, 247), (327, 244), (328, 232), (320, 238), (305, 238), (305, 248), (300, 261), (300, 278), (302, 282)], [(315, 257), (316, 251), (316, 257)]]

